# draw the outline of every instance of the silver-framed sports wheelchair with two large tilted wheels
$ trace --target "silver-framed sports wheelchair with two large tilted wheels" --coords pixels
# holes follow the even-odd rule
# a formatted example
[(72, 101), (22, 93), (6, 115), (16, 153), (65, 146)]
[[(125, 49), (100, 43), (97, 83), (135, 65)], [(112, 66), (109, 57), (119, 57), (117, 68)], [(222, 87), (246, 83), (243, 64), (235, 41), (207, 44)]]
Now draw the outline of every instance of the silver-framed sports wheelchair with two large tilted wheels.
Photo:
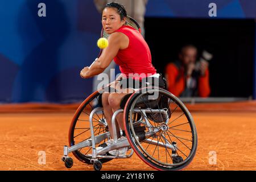
[[(144, 163), (157, 170), (179, 170), (188, 166), (196, 154), (197, 133), (192, 115), (174, 94), (155, 86), (144, 87), (128, 94), (121, 101), (121, 109), (112, 117), (114, 142), (101, 105), (102, 94), (91, 94), (76, 110), (69, 129), (69, 147), (64, 146), (62, 158), (71, 168), (69, 153), (82, 163), (93, 164), (100, 171), (102, 164), (113, 159), (130, 158), (134, 152)], [(126, 138), (117, 140), (115, 118), (123, 113)], [(110, 155), (109, 151), (127, 147), (125, 156)], [(118, 150), (117, 150), (118, 151)]]

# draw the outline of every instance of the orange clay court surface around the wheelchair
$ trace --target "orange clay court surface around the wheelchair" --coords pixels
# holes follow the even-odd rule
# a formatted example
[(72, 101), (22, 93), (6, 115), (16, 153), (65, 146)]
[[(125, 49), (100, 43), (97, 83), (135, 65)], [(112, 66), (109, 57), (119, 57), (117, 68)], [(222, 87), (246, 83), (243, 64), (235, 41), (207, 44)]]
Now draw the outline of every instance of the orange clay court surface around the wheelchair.
[[(71, 154), (74, 165), (61, 161), (69, 124), (79, 105), (0, 106), (0, 170), (93, 170)], [(256, 102), (187, 105), (195, 120), (198, 148), (184, 170), (256, 170)], [(38, 164), (39, 151), (46, 164)], [(217, 164), (209, 164), (209, 152)], [(136, 154), (105, 163), (102, 170), (152, 170)]]

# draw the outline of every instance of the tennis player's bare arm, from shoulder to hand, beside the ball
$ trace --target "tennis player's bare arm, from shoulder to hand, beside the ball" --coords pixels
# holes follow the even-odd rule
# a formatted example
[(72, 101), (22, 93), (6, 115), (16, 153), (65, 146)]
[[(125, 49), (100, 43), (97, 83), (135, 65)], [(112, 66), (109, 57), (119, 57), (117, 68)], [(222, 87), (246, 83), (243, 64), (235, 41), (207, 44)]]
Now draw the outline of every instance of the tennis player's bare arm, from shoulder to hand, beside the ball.
[(101, 56), (90, 67), (82, 69), (80, 73), (82, 78), (90, 78), (104, 72), (117, 55), (119, 49), (122, 47), (123, 35), (115, 32), (109, 36), (108, 40), (109, 46), (102, 51)]

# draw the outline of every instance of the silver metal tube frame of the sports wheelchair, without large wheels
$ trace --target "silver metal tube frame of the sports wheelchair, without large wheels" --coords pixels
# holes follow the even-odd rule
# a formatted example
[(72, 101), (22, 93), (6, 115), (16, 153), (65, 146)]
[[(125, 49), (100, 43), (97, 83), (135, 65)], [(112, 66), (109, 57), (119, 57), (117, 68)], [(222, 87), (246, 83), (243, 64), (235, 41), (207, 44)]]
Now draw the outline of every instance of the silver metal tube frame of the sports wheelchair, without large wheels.
[[(168, 127), (168, 126), (165, 126), (164, 123), (168, 123), (168, 120), (170, 119), (168, 117), (168, 109), (164, 108), (164, 109), (134, 109), (133, 110), (135, 113), (142, 113), (141, 114), (141, 118), (137, 121), (138, 123), (142, 123), (144, 125), (146, 125), (148, 127), (148, 131), (150, 131), (150, 133), (147, 133), (146, 134), (146, 137), (148, 136), (153, 136), (155, 135), (156, 133), (160, 133), (159, 131), (162, 131), (164, 130), (163, 128), (164, 127)], [(93, 164), (94, 166), (94, 169), (97, 170), (97, 171), (100, 171), (101, 167), (102, 167), (102, 163), (100, 162), (99, 159), (125, 159), (125, 158), (131, 158), (131, 156), (134, 154), (134, 151), (133, 151), (133, 148), (130, 148), (130, 143), (129, 143), (129, 140), (126, 138), (126, 139), (122, 139), (122, 140), (117, 140), (117, 131), (116, 131), (116, 127), (115, 127), (115, 119), (117, 117), (118, 114), (120, 113), (123, 113), (124, 112), (124, 109), (119, 109), (117, 111), (115, 111), (113, 113), (113, 117), (112, 117), (112, 128), (113, 128), (113, 139), (114, 139), (114, 143), (113, 144), (110, 144), (109, 146), (106, 146), (104, 148), (101, 148), (100, 150), (96, 150), (96, 145), (99, 144), (100, 142), (102, 142), (102, 140), (104, 139), (109, 139), (110, 138), (110, 133), (109, 131), (106, 132), (106, 133), (103, 133), (103, 134), (100, 134), (100, 135), (97, 135), (95, 136), (94, 135), (94, 131), (93, 131), (93, 116), (94, 114), (98, 114), (98, 113), (102, 113), (103, 112), (103, 107), (96, 107), (94, 108), (90, 115), (89, 115), (89, 123), (90, 123), (90, 138), (85, 140), (85, 141), (82, 141), (80, 143), (77, 143), (73, 146), (64, 146), (64, 155), (63, 155), (63, 158), (62, 160), (65, 162), (65, 166), (67, 168), (71, 168), (73, 166), (73, 160), (72, 158), (69, 157), (69, 153), (71, 152), (74, 152), (74, 151), (77, 151), (81, 148), (84, 148), (84, 147), (92, 147), (92, 153), (91, 154), (88, 154), (88, 155), (85, 155), (86, 158), (90, 159), (90, 163)], [(146, 113), (161, 113), (161, 114), (164, 114), (166, 116), (166, 121), (164, 121), (162, 124), (161, 124), (161, 127), (160, 129), (151, 129), (151, 124), (150, 122), (148, 121), (147, 117), (144, 117), (146, 115)], [(104, 120), (100, 120), (99, 121), (101, 125), (103, 126), (107, 126), (107, 123), (105, 121), (105, 118)], [(162, 127), (163, 126), (163, 127)], [(122, 135), (122, 130), (120, 130), (120, 133)], [(160, 134), (162, 135), (162, 134)], [(173, 143), (170, 143), (168, 142), (168, 140), (162, 135), (162, 137), (164, 138), (166, 144), (164, 144), (163, 142), (159, 142), (159, 141), (156, 141), (156, 140), (150, 140), (150, 139), (145, 139), (144, 142), (145, 143), (150, 143), (150, 144), (154, 144), (154, 145), (158, 145), (160, 147), (166, 147), (168, 149), (171, 149), (172, 150), (172, 156), (177, 156), (176, 154), (176, 150), (179, 149), (177, 147), (177, 144), (175, 142)], [(119, 156), (118, 154), (118, 149), (119, 148), (123, 148), (123, 147), (127, 147), (129, 148), (130, 150), (130, 154), (128, 155), (125, 155), (125, 156)], [(105, 155), (106, 153), (108, 153), (109, 151), (112, 151), (112, 150), (117, 150), (117, 153), (116, 155)], [(180, 164), (184, 163), (181, 162)], [(170, 166), (176, 166), (175, 164), (170, 164)]]

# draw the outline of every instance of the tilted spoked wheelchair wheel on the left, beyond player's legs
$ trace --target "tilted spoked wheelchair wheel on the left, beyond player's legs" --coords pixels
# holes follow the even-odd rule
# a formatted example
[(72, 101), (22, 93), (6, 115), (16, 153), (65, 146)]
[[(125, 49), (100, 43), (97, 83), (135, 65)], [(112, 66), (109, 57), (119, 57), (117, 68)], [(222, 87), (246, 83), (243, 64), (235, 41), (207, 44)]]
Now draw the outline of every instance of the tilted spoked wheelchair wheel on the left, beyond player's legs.
[[(83, 142), (91, 138), (89, 115), (93, 109), (99, 107), (99, 100), (101, 94), (97, 91), (91, 94), (79, 108), (72, 119), (71, 126), (69, 127), (69, 146)], [(101, 102), (101, 101), (100, 101)], [(94, 114), (93, 116), (93, 133), (94, 136), (108, 132), (104, 112), (102, 114)], [(107, 139), (102, 140), (97, 146), (100, 146)], [(83, 163), (91, 164), (90, 154), (92, 154), (92, 146), (80, 148), (73, 152), (73, 155)], [(99, 159), (101, 163), (109, 162), (112, 159)]]

